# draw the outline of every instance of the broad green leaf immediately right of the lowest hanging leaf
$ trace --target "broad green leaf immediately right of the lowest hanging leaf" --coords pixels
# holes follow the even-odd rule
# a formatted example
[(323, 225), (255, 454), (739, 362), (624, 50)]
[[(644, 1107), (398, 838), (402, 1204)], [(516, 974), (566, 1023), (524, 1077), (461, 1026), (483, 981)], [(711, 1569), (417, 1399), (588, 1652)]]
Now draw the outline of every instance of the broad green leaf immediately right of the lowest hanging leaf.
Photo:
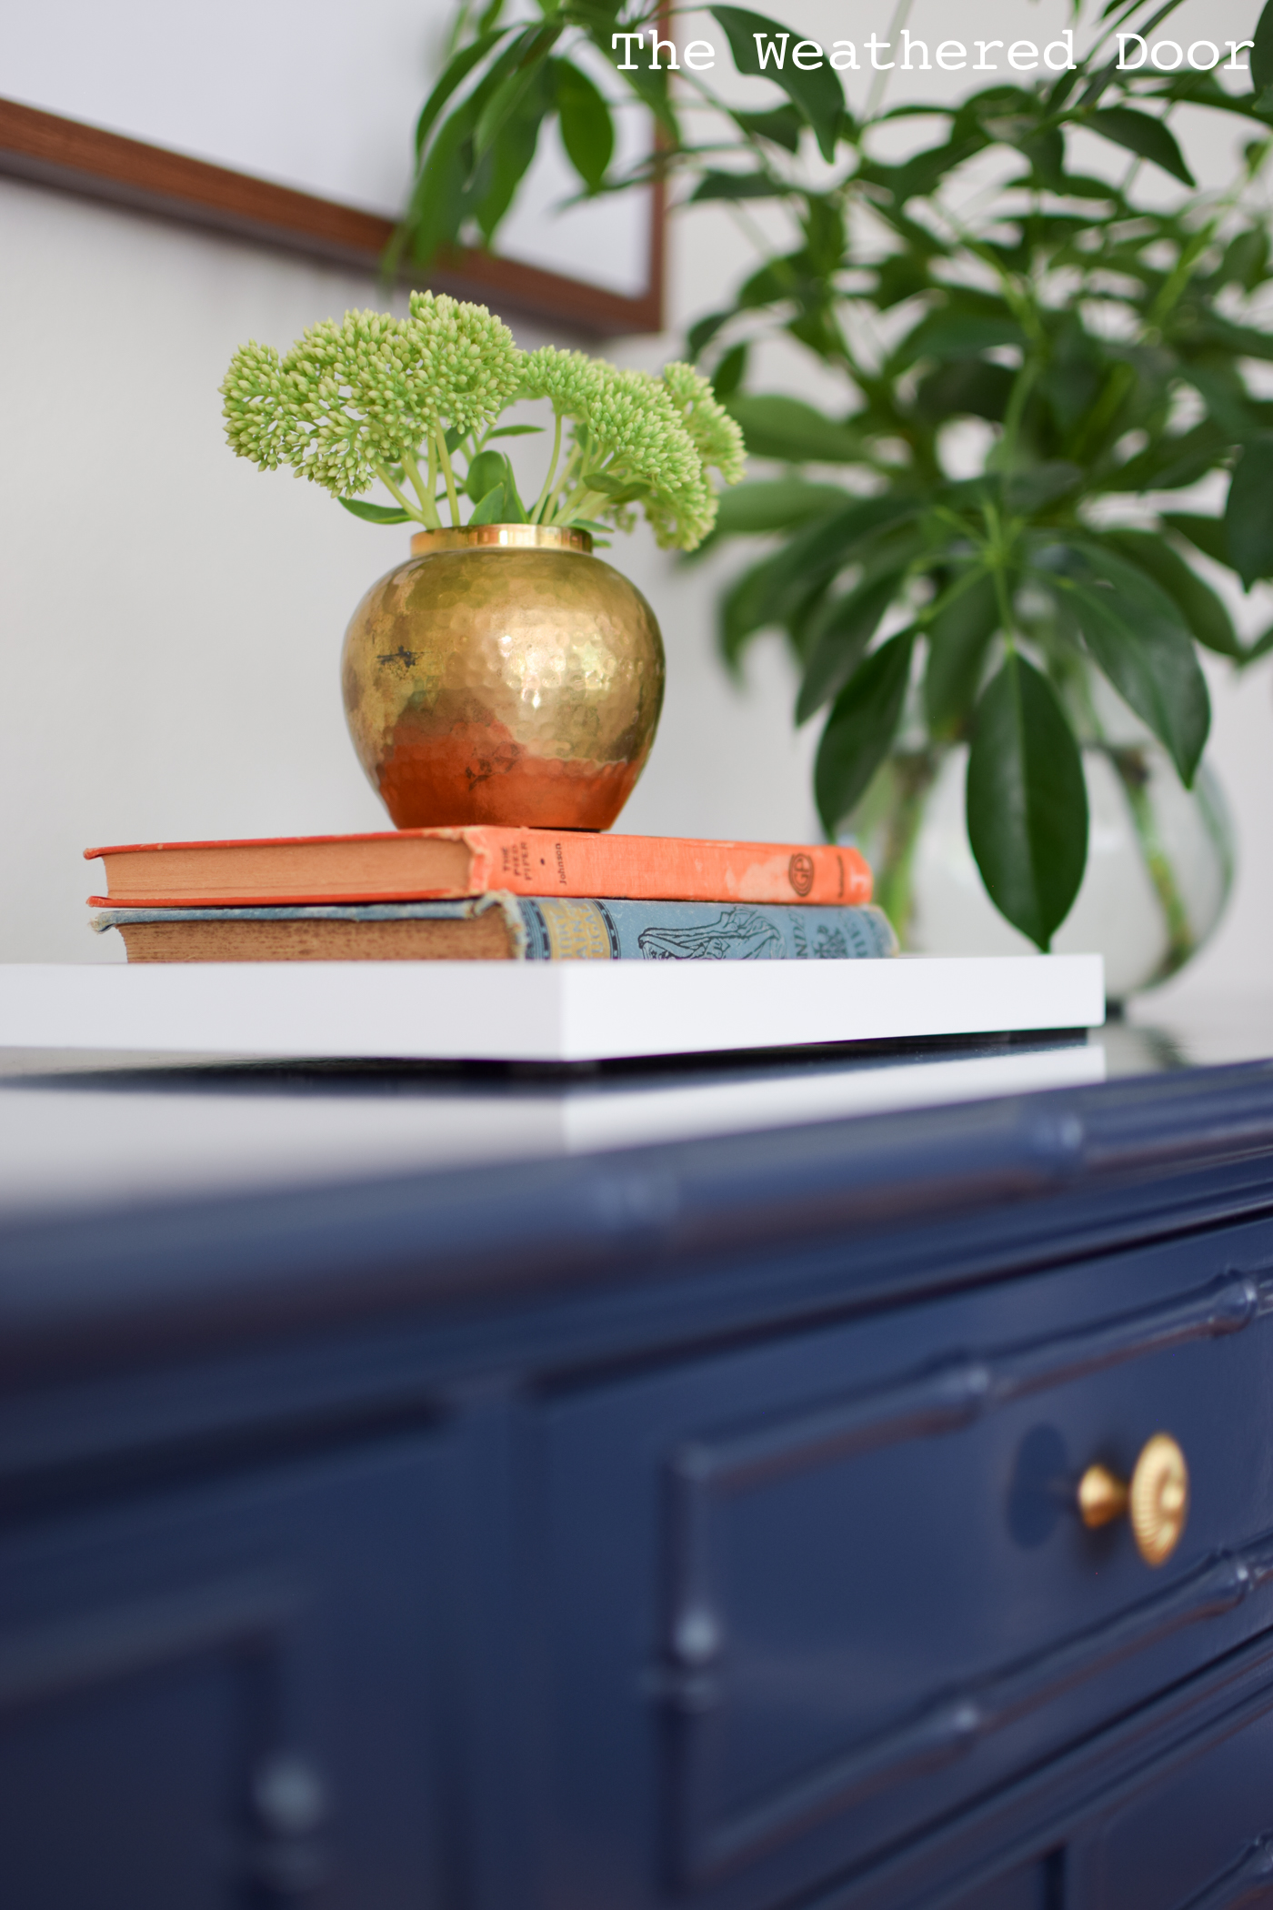
[(1189, 787), (1212, 720), (1193, 640), (1172, 600), (1136, 565), (1090, 546), (1084, 560), (1096, 581), (1067, 586), (1084, 642)]

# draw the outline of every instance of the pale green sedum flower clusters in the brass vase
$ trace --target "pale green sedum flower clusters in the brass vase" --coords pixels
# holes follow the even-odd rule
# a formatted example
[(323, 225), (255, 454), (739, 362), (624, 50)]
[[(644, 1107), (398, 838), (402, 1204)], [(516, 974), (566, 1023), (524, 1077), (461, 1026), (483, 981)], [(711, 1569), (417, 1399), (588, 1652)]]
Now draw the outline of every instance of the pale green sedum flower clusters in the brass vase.
[[(347, 311), (311, 325), (282, 359), (246, 344), (221, 395), (237, 456), (288, 464), (380, 523), (437, 527), (439, 504), (460, 523), (460, 491), (483, 523), (628, 529), (639, 502), (660, 544), (693, 550), (716, 521), (708, 472), (725, 483), (742, 474), (739, 428), (689, 365), (651, 378), (584, 351), (521, 351), (485, 306), (433, 292), (412, 292), (407, 319)], [(519, 397), (553, 409), (550, 468), (529, 514), (508, 458), (487, 449)], [(460, 455), (468, 476), (454, 470)], [(359, 502), (374, 479), (395, 508)]]

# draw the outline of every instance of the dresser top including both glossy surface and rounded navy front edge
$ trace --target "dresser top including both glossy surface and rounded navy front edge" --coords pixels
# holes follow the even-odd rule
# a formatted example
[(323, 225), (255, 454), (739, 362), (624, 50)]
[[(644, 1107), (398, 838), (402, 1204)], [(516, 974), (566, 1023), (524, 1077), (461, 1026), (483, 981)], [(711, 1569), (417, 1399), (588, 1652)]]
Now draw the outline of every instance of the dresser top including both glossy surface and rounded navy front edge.
[(697, 1327), (653, 1305), (660, 1284), (708, 1310), (746, 1289), (760, 1324), (1254, 1217), (1262, 1028), (1231, 1005), (1193, 1037), (569, 1081), (10, 1054), (0, 1364), (456, 1308), (487, 1331), (567, 1291), (641, 1295), (670, 1343)]

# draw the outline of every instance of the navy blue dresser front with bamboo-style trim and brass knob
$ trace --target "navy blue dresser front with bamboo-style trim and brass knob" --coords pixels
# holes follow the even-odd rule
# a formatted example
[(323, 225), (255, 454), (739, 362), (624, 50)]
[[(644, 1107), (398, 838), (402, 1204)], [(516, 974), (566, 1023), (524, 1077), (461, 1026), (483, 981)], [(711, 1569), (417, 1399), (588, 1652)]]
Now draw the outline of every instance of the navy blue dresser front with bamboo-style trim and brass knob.
[(15, 1207), (0, 1358), (4, 1910), (1273, 1904), (1273, 1064)]

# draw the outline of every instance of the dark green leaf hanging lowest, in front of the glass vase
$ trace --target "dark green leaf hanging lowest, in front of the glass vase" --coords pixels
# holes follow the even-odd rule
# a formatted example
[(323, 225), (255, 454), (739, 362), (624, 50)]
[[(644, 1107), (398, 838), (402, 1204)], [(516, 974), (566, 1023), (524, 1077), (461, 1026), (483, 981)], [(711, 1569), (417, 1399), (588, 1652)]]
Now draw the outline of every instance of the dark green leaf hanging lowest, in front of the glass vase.
[(1046, 953), (1088, 861), (1088, 791), (1065, 711), (1021, 655), (977, 705), (966, 800), (991, 902)]

